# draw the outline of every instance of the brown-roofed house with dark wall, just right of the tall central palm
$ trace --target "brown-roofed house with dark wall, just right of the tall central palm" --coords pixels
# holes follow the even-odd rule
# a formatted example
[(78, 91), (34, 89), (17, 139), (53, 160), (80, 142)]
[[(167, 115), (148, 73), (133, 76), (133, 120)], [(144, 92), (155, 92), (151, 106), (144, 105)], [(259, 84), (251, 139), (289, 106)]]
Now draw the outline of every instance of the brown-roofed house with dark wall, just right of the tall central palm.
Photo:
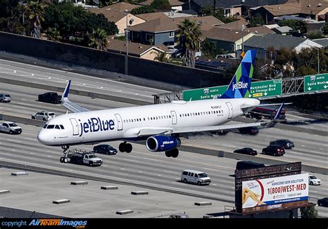
[(250, 32), (240, 30), (227, 30), (226, 28), (213, 27), (210, 30), (202, 30), (203, 39), (208, 39), (215, 44), (217, 50), (223, 49), (230, 53), (235, 53), (242, 49), (242, 42), (246, 42), (255, 35)]

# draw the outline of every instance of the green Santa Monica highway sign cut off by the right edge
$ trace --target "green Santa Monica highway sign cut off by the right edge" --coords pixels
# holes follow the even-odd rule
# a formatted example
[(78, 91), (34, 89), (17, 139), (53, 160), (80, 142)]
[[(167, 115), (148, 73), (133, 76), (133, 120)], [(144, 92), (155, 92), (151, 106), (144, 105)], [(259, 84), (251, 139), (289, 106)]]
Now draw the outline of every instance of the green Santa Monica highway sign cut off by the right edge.
[(328, 74), (304, 76), (304, 92), (328, 90)]

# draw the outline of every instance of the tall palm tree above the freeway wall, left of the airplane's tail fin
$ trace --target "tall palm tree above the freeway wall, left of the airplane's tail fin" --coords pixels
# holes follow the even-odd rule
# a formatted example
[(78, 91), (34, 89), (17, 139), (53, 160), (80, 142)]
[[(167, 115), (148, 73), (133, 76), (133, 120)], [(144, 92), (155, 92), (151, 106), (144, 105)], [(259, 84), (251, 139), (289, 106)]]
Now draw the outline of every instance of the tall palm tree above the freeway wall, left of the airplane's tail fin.
[(185, 19), (178, 25), (179, 31), (176, 35), (178, 44), (182, 47), (182, 62), (184, 66), (194, 68), (194, 55), (199, 48), (201, 30), (195, 21)]

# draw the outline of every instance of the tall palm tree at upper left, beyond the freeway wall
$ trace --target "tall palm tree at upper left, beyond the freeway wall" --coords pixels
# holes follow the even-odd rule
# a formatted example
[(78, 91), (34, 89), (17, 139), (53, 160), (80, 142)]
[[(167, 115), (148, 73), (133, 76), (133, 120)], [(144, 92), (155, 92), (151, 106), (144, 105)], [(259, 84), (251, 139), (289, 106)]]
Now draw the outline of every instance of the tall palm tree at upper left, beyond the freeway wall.
[(30, 32), (31, 37), (40, 38), (41, 37), (41, 21), (44, 21), (44, 5), (39, 3), (39, 1), (30, 1), (28, 3), (26, 11), (28, 12), (28, 17), (31, 19), (33, 26)]

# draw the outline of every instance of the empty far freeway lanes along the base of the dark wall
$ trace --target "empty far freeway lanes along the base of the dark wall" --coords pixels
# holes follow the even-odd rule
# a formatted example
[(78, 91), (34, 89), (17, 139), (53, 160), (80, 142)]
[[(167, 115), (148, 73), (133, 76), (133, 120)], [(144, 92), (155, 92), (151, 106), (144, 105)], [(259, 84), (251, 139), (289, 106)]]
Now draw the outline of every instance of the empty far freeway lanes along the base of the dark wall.
[[(115, 74), (115, 73), (113, 73)], [(37, 84), (60, 86), (64, 88), (68, 80), (72, 80), (71, 89), (93, 91), (106, 95), (115, 95), (122, 98), (134, 98), (146, 102), (153, 102), (153, 94), (169, 91), (154, 89), (147, 86), (139, 86), (108, 80), (100, 77), (71, 73), (66, 70), (44, 68), (40, 66), (11, 62), (0, 59), (0, 77), (4, 79), (35, 82)]]

